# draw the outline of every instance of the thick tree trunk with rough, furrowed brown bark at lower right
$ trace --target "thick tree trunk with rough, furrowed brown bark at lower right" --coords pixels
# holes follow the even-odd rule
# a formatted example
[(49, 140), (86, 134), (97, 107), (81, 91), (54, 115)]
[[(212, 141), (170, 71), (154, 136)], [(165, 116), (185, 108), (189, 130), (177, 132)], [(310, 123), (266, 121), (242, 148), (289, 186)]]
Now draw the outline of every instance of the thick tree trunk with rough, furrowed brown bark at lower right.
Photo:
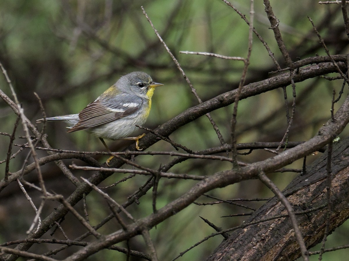
[[(326, 221), (332, 232), (349, 217), (349, 139), (334, 145), (332, 153), (331, 210), (327, 208), (327, 153), (297, 176), (283, 191), (296, 212), (318, 208), (297, 215), (308, 249), (324, 237)], [(246, 221), (255, 222), (287, 212), (274, 197)], [(207, 259), (213, 260), (295, 260), (300, 256), (299, 245), (289, 217), (280, 217), (235, 230)]]

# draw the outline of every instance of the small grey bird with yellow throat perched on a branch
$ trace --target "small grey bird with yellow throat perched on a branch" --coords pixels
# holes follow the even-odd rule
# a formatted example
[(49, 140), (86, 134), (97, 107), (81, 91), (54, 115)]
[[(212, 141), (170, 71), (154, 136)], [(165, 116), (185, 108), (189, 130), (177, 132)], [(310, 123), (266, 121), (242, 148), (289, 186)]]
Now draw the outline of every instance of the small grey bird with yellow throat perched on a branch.
[[(67, 132), (86, 130), (98, 137), (108, 152), (111, 152), (103, 139), (110, 140), (135, 140), (136, 149), (139, 139), (145, 134), (128, 137), (138, 127), (146, 122), (150, 108), (151, 97), (154, 88), (161, 86), (154, 82), (145, 72), (131, 72), (108, 88), (94, 102), (86, 106), (79, 114), (68, 114), (46, 118), (47, 121), (61, 120), (68, 124)], [(38, 119), (36, 122), (43, 122)], [(107, 159), (109, 165), (110, 157)]]

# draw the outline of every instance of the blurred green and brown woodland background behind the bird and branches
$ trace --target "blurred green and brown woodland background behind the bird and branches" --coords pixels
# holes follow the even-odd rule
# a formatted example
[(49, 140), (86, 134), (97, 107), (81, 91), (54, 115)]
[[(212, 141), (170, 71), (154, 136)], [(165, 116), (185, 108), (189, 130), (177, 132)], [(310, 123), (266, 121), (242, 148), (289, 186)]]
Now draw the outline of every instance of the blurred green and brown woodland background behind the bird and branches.
[[(344, 31), (340, 5), (319, 5), (311, 1), (271, 1), (280, 30), (293, 61), (315, 55), (326, 55), (307, 16), (310, 16), (325, 40), (331, 54), (348, 53), (348, 39)], [(240, 12), (249, 17), (250, 1), (231, 1)], [(191, 80), (203, 101), (218, 94), (237, 88), (243, 69), (243, 62), (223, 60), (214, 57), (180, 54), (179, 51), (212, 52), (227, 56), (246, 57), (248, 45), (248, 25), (223, 1), (209, 0), (4, 0), (0, 1), (0, 62), (12, 80), (12, 84), (22, 103), (25, 115), (35, 122), (42, 118), (39, 103), (34, 92), (40, 97), (47, 117), (77, 113), (88, 103), (94, 101), (105, 89), (116, 82), (120, 76), (132, 71), (144, 71), (153, 80), (165, 84), (156, 89), (153, 105), (145, 127), (154, 129), (185, 111), (198, 101), (191, 93), (183, 76), (176, 68), (171, 57), (154, 34), (146, 17), (144, 7), (154, 26), (176, 56), (186, 75)], [(268, 43), (281, 67), (282, 56), (276, 45), (273, 31), (266, 17), (262, 1), (254, 2), (254, 27)], [(253, 38), (253, 50), (246, 84), (260, 81), (270, 76), (277, 68), (262, 43)], [(320, 78), (296, 84), (296, 114), (290, 131), (290, 141), (306, 141), (316, 135), (330, 118), (333, 89), (339, 93), (342, 81), (327, 81)], [(11, 96), (4, 77), (0, 77), (0, 89)], [(347, 89), (343, 96), (347, 95)], [(292, 102), (292, 89), (287, 88), (289, 104)], [(340, 102), (341, 104), (341, 102)], [(335, 108), (338, 108), (336, 105)], [(225, 142), (230, 142), (230, 120), (232, 106), (211, 113)], [(6, 103), (0, 102), (2, 133), (12, 133), (16, 116)], [(249, 97), (239, 102), (238, 143), (280, 142), (287, 128), (285, 101), (282, 89)], [(39, 129), (42, 127), (38, 126)], [(101, 142), (85, 132), (67, 134), (62, 122), (46, 125), (48, 141), (56, 149), (77, 151), (104, 151)], [(21, 128), (18, 128), (15, 144), (25, 143)], [(342, 133), (348, 135), (348, 130)], [(198, 151), (220, 146), (221, 143), (203, 116), (170, 135), (170, 138), (187, 148)], [(5, 163), (9, 137), (0, 136), (1, 173)], [(112, 151), (127, 147), (126, 141), (108, 141)], [(13, 146), (13, 153), (19, 147)], [(151, 151), (175, 151), (169, 143), (159, 141), (150, 147)], [(18, 171), (27, 156), (27, 150), (19, 153), (10, 161), (10, 172)], [(39, 156), (46, 153), (38, 151)], [(225, 156), (225, 153), (222, 154)], [(271, 157), (272, 153), (263, 150), (253, 151), (241, 156), (240, 161), (252, 163)], [(104, 162), (106, 156), (94, 156)], [(311, 162), (317, 156), (308, 157)], [(169, 156), (140, 156), (135, 162), (148, 168), (158, 169), (169, 163)], [(78, 165), (82, 161), (73, 160)], [(67, 165), (72, 160), (65, 160)], [(303, 160), (296, 161), (290, 168), (301, 168)], [(170, 169), (173, 173), (191, 175), (210, 175), (220, 170), (230, 169), (231, 164), (212, 160), (187, 160)], [(44, 180), (49, 191), (69, 196), (74, 185), (60, 173), (54, 163), (43, 166)], [(3, 174), (2, 174), (3, 175)], [(89, 177), (91, 173), (74, 171), (77, 177)], [(120, 180), (124, 174), (114, 174), (102, 186)], [(297, 173), (275, 173), (273, 181), (283, 189)], [(3, 176), (1, 176), (3, 178)], [(37, 183), (36, 173), (25, 177)], [(123, 182), (117, 189), (107, 189), (115, 200), (124, 202), (127, 196), (144, 184), (147, 177), (140, 176)], [(195, 181), (161, 179), (158, 188), (157, 207), (160, 208), (178, 195), (183, 194)], [(40, 193), (28, 188), (28, 193), (37, 204)], [(211, 191), (211, 196), (223, 199), (266, 198), (273, 196), (259, 181), (244, 181), (227, 188)], [(0, 193), (0, 242), (25, 238), (35, 213), (17, 184), (10, 184)], [(129, 207), (135, 218), (149, 215), (151, 193), (142, 197), (140, 204)], [(100, 222), (109, 213), (104, 199), (92, 192), (87, 198), (89, 218), (92, 225)], [(198, 202), (211, 202), (213, 199), (200, 198)], [(252, 209), (264, 201), (244, 203)], [(56, 204), (56, 203), (52, 203)], [(97, 207), (98, 206), (98, 207)], [(44, 208), (43, 216), (52, 212), (54, 205)], [(76, 206), (82, 209), (82, 203)], [(171, 260), (186, 248), (211, 234), (213, 229), (199, 217), (205, 217), (216, 226), (227, 229), (238, 226), (246, 217), (220, 217), (229, 214), (251, 212), (238, 206), (214, 204), (208, 206), (191, 205), (174, 217), (151, 230), (160, 260)], [(23, 214), (25, 213), (25, 214)], [(62, 224), (67, 234), (74, 239), (79, 236), (81, 225), (73, 216), (67, 215)], [(115, 220), (100, 230), (108, 233), (116, 230)], [(52, 231), (51, 231), (52, 232)], [(326, 247), (348, 244), (348, 222), (344, 223), (328, 238)], [(59, 232), (54, 237), (59, 238)], [(64, 239), (62, 237), (62, 239)], [(203, 260), (222, 241), (223, 237), (211, 238), (186, 253), (179, 260)], [(143, 239), (135, 237), (130, 241), (131, 248), (145, 249)], [(120, 244), (121, 246), (122, 245)], [(34, 245), (31, 250), (46, 252), (51, 245)], [(68, 248), (54, 258), (64, 258), (77, 247)], [(317, 248), (318, 249), (318, 248)], [(345, 260), (348, 250), (325, 253), (322, 260)], [(98, 256), (97, 256), (98, 255)], [(101, 251), (98, 260), (116, 260), (124, 254)], [(96, 257), (95, 256), (95, 257)], [(317, 260), (312, 256), (311, 260)], [(96, 260), (96, 259), (91, 259)], [(137, 259), (132, 259), (137, 260)]]

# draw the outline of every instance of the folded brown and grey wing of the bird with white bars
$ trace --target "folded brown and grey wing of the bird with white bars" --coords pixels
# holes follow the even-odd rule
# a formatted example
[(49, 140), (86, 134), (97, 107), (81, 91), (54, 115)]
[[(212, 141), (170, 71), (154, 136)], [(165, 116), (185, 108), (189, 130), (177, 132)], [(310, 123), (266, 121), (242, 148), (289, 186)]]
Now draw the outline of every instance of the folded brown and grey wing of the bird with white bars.
[[(110, 105), (113, 106), (110, 106)], [(79, 113), (79, 122), (68, 132), (94, 128), (111, 122), (137, 111), (142, 105), (142, 99), (130, 94), (120, 94), (106, 102), (96, 100), (91, 102)]]

